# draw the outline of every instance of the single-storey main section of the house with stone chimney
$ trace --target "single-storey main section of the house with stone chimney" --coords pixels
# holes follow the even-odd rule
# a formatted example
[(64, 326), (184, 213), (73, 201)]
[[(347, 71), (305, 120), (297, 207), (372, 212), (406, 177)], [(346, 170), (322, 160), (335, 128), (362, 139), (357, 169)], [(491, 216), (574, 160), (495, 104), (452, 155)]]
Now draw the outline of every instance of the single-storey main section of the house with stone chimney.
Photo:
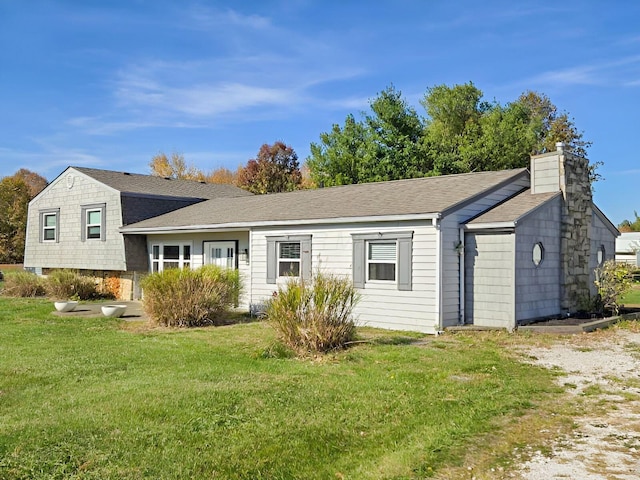
[(353, 280), (360, 324), (427, 333), (576, 311), (618, 235), (561, 144), (529, 169), (214, 198), (122, 225), (149, 271), (237, 268), (247, 308), (322, 270)]

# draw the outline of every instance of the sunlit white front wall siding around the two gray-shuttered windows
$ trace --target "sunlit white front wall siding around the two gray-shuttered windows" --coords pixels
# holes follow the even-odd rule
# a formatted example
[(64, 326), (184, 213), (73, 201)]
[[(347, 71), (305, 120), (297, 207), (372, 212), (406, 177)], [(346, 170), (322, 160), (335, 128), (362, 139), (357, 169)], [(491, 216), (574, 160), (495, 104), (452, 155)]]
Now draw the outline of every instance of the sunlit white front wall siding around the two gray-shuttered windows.
[[(413, 231), (413, 284), (399, 291), (395, 284), (366, 283), (356, 309), (360, 325), (434, 333), (436, 312), (435, 242), (431, 222), (314, 225), (291, 228), (255, 228), (251, 233), (251, 292), (253, 303), (270, 298), (278, 285), (266, 283), (267, 236), (311, 235), (312, 270), (351, 278), (352, 234)], [(278, 282), (286, 281), (279, 279)]]

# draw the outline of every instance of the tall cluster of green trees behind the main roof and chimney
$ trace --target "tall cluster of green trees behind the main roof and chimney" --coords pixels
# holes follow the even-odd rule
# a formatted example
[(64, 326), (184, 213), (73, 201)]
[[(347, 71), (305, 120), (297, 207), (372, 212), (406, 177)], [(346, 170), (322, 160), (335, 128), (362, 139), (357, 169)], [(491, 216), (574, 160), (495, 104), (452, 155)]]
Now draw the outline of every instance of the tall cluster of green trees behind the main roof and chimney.
[(530, 155), (553, 151), (558, 141), (581, 156), (590, 145), (567, 114), (536, 92), (501, 105), (483, 100), (471, 82), (437, 85), (421, 104), (426, 118), (394, 87), (380, 92), (362, 120), (348, 115), (311, 144), (312, 179), (342, 185), (502, 170), (528, 166)]

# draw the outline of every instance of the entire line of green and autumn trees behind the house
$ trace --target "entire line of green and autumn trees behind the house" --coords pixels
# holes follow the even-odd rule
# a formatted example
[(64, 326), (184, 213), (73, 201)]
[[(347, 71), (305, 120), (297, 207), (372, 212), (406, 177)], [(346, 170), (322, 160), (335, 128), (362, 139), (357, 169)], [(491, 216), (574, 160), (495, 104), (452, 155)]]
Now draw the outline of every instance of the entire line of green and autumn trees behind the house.
[[(170, 178), (233, 184), (255, 194), (347, 185), (452, 173), (527, 167), (532, 154), (555, 150), (564, 142), (587, 156), (591, 142), (568, 113), (544, 94), (526, 91), (506, 104), (487, 101), (473, 83), (436, 85), (420, 100), (419, 114), (391, 85), (369, 102), (369, 110), (349, 114), (311, 143), (301, 166), (283, 141), (264, 144), (255, 158), (235, 171), (210, 172), (187, 163), (178, 152), (159, 152), (150, 173)], [(591, 164), (597, 180), (599, 162)], [(0, 263), (24, 256), (27, 204), (47, 181), (19, 170), (0, 181)], [(625, 230), (640, 231), (640, 219), (625, 220)]]

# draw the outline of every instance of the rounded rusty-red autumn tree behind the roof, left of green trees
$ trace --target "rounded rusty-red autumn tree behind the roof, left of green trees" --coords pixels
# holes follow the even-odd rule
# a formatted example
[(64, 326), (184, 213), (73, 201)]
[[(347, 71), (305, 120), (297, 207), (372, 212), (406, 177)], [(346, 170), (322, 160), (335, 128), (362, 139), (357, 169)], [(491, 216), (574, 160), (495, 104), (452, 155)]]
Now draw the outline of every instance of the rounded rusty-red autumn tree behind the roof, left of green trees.
[(257, 194), (297, 190), (301, 181), (298, 155), (281, 141), (262, 145), (257, 157), (237, 174), (237, 185)]

